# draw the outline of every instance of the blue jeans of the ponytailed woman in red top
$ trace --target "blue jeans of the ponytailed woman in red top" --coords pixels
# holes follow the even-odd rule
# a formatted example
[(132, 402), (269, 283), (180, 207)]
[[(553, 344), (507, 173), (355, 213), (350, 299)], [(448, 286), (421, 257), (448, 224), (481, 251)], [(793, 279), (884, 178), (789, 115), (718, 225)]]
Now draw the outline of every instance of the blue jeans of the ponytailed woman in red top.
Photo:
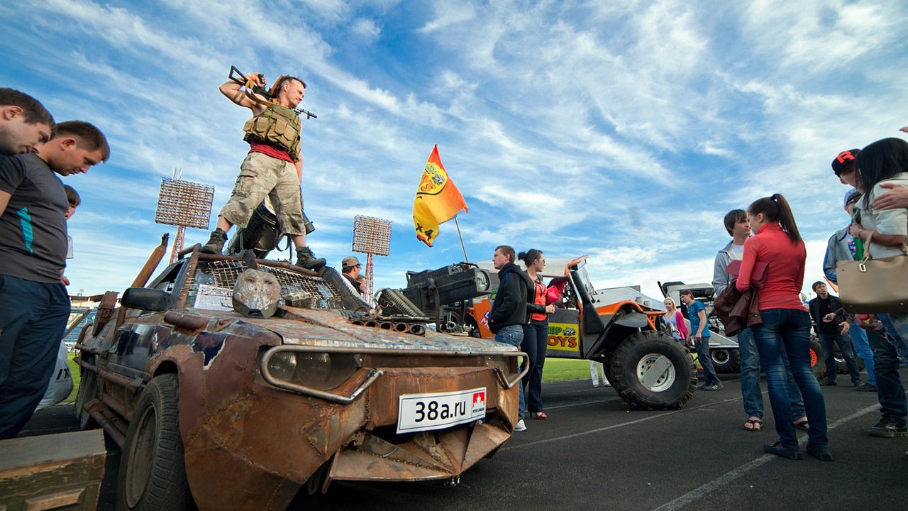
[(798, 446), (795, 425), (788, 420), (792, 416), (788, 396), (788, 370), (782, 354), (788, 355), (791, 374), (804, 397), (804, 408), (810, 431), (808, 444), (829, 445), (826, 436), (826, 403), (820, 384), (810, 368), (810, 315), (804, 310), (767, 309), (760, 311), (763, 325), (754, 326), (756, 349), (766, 371), (766, 386), (769, 387), (769, 403), (773, 406), (775, 432), (787, 449)]

